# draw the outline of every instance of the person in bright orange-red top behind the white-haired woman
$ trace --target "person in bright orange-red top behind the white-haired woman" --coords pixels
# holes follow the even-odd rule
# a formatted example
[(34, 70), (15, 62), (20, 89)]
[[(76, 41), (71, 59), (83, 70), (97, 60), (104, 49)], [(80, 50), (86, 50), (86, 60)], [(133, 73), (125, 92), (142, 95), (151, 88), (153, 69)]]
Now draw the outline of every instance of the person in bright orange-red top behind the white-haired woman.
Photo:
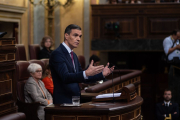
[(46, 70), (44, 72), (43, 80), (42, 81), (43, 81), (46, 89), (51, 94), (53, 94), (54, 85), (53, 85), (53, 81), (52, 81), (51, 70), (50, 70), (49, 64), (46, 66)]

